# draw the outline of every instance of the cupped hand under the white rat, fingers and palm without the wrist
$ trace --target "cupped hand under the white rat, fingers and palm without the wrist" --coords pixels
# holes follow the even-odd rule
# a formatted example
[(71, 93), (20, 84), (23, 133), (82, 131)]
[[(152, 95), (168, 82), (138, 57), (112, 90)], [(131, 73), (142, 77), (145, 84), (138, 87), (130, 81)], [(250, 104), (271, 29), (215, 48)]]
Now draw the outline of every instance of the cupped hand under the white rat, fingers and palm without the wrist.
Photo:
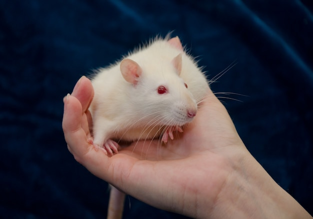
[(158, 208), (190, 215), (203, 192), (210, 196), (201, 204), (213, 205), (233, 160), (247, 153), (226, 109), (208, 90), (194, 120), (173, 140), (133, 142), (108, 157), (90, 140), (92, 97), (86, 77), (64, 97), (62, 127), (69, 151), (96, 176)]

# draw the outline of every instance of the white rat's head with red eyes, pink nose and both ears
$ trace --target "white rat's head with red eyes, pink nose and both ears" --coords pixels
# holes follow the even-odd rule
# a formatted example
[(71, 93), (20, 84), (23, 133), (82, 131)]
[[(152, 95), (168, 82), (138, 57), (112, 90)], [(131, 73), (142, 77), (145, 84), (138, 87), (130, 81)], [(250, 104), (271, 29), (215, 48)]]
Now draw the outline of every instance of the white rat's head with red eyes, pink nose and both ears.
[(132, 59), (120, 62), (124, 79), (131, 83), (131, 101), (143, 122), (160, 125), (183, 125), (197, 112), (197, 104), (179, 77), (181, 53), (171, 60), (154, 60), (139, 65)]

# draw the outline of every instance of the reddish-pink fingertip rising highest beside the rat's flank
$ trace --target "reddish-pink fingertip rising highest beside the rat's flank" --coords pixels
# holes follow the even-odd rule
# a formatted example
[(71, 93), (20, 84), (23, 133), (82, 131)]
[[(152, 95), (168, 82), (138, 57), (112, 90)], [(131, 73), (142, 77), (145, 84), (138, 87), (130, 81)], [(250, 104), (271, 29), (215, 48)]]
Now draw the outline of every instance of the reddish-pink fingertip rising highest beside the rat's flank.
[(72, 96), (75, 96), (80, 101), (82, 112), (85, 112), (88, 109), (93, 94), (91, 81), (85, 76), (80, 77), (71, 93)]

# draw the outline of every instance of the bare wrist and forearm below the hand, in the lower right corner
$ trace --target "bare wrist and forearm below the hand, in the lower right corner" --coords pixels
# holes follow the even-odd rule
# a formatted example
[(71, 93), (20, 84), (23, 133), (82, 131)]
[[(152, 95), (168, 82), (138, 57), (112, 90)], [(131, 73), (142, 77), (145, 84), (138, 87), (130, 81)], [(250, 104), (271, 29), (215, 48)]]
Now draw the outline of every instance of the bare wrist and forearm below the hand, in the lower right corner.
[(211, 218), (312, 218), (248, 151), (230, 169)]

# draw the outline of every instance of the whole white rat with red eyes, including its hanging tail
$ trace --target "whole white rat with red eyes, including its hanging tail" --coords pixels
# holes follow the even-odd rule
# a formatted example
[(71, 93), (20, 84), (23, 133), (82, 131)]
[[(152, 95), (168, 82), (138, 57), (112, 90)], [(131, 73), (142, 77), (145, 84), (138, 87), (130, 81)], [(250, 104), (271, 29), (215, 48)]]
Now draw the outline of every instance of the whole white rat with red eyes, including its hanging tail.
[[(118, 152), (119, 140), (173, 139), (173, 131), (182, 131), (192, 121), (208, 88), (204, 73), (179, 38), (169, 35), (99, 69), (91, 82), (93, 144), (108, 155)], [(118, 192), (111, 189), (109, 208), (122, 211), (123, 195)], [(108, 218), (116, 215), (121, 217), (121, 212), (108, 213)]]

